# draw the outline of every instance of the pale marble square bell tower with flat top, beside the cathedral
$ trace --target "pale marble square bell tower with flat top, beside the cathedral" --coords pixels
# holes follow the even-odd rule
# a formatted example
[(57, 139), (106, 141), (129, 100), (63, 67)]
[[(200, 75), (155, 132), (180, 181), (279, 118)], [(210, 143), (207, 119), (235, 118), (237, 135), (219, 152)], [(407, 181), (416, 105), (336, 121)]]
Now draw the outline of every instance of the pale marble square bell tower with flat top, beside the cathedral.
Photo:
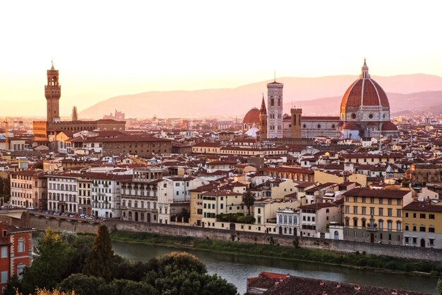
[(282, 138), (282, 83), (267, 84), (267, 137)]

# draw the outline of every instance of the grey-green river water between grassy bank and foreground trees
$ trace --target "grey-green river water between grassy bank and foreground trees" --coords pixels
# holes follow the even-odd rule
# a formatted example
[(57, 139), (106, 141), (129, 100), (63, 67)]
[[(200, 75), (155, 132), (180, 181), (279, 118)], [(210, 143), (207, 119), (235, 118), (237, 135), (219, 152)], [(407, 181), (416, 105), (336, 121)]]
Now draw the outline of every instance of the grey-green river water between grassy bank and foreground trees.
[(261, 258), (244, 255), (211, 253), (204, 250), (186, 250), (160, 245), (113, 242), (114, 252), (124, 258), (146, 262), (150, 258), (173, 251), (187, 251), (201, 260), (210, 274), (218, 274), (234, 284), (239, 294), (246, 292), (246, 279), (256, 277), (259, 272), (277, 272), (299, 277), (330, 279), (353, 284), (373, 285), (393, 289), (434, 293), (437, 279), (412, 274), (391, 274), (373, 270), (357, 270), (316, 262), (299, 262), (279, 258)]

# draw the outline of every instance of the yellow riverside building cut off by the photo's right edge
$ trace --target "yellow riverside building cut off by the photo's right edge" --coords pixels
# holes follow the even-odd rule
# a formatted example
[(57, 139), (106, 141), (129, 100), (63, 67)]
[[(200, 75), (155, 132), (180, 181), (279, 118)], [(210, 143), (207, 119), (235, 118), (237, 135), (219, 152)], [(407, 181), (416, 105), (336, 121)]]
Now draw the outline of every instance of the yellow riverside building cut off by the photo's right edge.
[(414, 201), (404, 207), (404, 245), (442, 248), (442, 202)]

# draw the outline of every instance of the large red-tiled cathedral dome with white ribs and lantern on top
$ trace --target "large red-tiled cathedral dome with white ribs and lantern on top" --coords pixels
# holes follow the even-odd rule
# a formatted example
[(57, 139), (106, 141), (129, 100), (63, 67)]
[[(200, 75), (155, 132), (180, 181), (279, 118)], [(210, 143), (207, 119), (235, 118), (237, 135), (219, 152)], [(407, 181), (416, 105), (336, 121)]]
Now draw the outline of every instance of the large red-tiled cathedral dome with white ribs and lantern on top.
[(386, 92), (376, 81), (371, 79), (365, 59), (359, 79), (350, 85), (342, 97), (341, 108), (347, 107), (390, 107)]

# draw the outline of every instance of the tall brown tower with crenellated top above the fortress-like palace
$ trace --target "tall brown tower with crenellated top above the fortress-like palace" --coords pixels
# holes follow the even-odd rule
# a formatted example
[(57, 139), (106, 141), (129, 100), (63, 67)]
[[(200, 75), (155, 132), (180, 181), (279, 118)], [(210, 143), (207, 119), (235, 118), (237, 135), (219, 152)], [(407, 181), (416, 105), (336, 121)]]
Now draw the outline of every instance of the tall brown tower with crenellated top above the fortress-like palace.
[(59, 122), (61, 88), (59, 84), (59, 71), (54, 69), (54, 63), (52, 63), (51, 69), (47, 70), (47, 85), (44, 86), (44, 96), (47, 101), (47, 122)]

